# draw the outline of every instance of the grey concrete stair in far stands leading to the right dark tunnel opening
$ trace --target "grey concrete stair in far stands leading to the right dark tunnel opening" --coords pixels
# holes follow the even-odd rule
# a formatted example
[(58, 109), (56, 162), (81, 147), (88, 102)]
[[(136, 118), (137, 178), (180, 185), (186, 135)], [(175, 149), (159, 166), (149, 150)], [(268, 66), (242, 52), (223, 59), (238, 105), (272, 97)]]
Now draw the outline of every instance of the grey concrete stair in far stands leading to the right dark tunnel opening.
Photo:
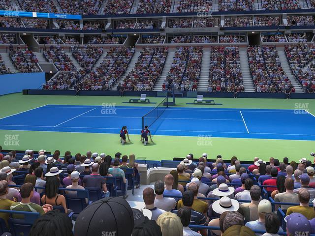
[(245, 92), (254, 92), (255, 88), (252, 82), (252, 76), (251, 76), (250, 67), (248, 64), (247, 48), (239, 48), (239, 50), (240, 50), (240, 62), (241, 62), (241, 70), (242, 70)]

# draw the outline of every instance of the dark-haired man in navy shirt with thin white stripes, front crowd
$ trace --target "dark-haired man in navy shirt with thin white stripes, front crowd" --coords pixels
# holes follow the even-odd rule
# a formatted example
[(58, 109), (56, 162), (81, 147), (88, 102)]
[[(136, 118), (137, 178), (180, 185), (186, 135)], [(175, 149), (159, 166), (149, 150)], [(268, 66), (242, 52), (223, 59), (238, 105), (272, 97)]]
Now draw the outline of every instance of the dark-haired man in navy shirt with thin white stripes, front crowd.
[[(192, 191), (187, 190), (184, 194), (183, 194), (183, 207), (184, 208), (188, 208), (190, 210), (190, 214), (191, 214), (191, 218), (190, 218), (190, 225), (206, 225), (207, 222), (207, 218), (204, 214), (196, 211), (193, 209), (192, 205), (194, 202), (194, 194)], [(178, 211), (180, 209), (182, 209), (183, 207), (178, 208), (178, 210), (173, 210), (172, 212), (177, 214)], [(197, 232), (196, 229), (192, 229), (192, 231)], [(200, 233), (203, 236), (207, 235), (207, 231), (206, 230), (200, 230)]]

